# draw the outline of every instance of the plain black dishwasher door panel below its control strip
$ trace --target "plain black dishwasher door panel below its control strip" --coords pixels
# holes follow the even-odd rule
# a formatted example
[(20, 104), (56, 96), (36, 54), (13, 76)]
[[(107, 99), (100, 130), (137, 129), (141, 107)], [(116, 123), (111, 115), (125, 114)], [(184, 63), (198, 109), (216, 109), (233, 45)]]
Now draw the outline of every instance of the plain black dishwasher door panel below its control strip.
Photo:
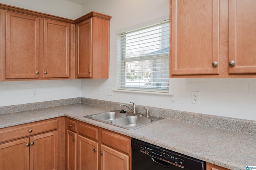
[[(154, 161), (155, 162), (154, 162)], [(132, 170), (184, 170), (132, 148)]]

